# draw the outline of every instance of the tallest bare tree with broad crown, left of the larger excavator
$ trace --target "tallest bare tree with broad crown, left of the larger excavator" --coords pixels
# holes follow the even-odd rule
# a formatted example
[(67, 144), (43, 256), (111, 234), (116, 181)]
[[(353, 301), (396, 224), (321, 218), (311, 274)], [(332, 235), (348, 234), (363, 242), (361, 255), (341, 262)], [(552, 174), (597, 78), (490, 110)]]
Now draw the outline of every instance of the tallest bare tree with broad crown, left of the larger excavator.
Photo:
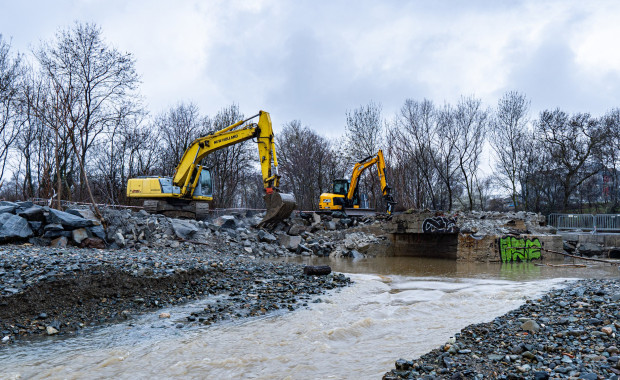
[(131, 54), (110, 48), (101, 29), (88, 23), (60, 30), (55, 41), (41, 45), (36, 57), (60, 100), (58, 122), (77, 158), (80, 193), (86, 188), (94, 206), (86, 174), (88, 151), (114, 124), (119, 109), (131, 104), (128, 98), (138, 85), (135, 61)]

